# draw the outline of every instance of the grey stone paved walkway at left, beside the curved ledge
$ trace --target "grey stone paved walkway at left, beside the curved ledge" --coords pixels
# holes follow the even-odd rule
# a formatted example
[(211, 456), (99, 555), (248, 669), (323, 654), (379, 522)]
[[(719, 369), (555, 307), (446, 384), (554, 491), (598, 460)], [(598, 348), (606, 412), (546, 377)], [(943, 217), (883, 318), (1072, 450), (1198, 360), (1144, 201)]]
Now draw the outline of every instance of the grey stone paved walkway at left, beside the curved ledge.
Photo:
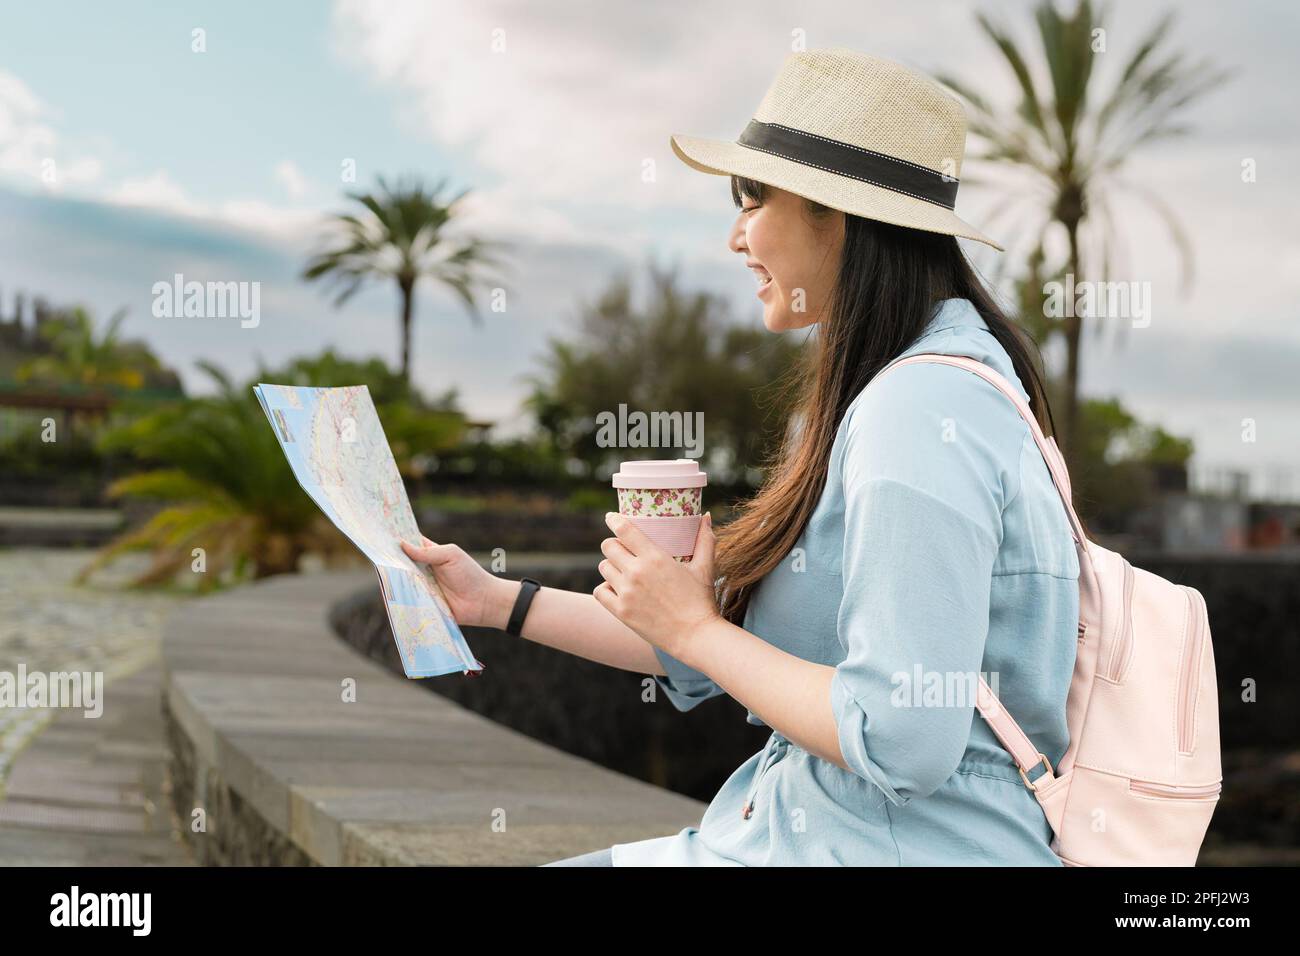
[(0, 671), (104, 675), (99, 718), (0, 709), (0, 865), (186, 864), (162, 793), (157, 663), (183, 598), (75, 587), (90, 557), (0, 551)]

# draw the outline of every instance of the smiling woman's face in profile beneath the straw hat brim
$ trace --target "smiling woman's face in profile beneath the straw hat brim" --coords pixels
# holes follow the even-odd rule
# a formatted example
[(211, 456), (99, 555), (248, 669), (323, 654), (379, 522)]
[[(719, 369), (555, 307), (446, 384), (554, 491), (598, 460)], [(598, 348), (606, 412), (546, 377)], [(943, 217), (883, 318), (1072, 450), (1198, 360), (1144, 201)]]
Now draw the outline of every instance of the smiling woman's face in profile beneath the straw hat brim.
[(815, 215), (802, 196), (763, 187), (762, 202), (741, 195), (727, 246), (757, 277), (763, 325), (789, 332), (828, 315), (844, 248), (844, 213)]

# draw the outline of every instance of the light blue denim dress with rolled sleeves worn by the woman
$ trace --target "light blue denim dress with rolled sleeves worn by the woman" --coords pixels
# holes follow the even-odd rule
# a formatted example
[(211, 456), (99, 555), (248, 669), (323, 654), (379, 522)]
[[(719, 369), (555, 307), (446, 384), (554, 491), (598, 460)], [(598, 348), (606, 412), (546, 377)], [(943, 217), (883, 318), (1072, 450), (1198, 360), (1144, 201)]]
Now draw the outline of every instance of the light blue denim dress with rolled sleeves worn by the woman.
[[(966, 299), (936, 306), (904, 354), (915, 352), (968, 355), (1023, 394)], [(1060, 761), (1078, 578), (1065, 509), (1014, 406), (961, 368), (890, 371), (849, 406), (816, 510), (745, 615), (745, 630), (835, 667), (828, 704), (852, 770), (774, 731), (698, 827), (615, 844), (614, 864), (1062, 865), (974, 687), (983, 675)], [(723, 693), (659, 658), (679, 710)]]

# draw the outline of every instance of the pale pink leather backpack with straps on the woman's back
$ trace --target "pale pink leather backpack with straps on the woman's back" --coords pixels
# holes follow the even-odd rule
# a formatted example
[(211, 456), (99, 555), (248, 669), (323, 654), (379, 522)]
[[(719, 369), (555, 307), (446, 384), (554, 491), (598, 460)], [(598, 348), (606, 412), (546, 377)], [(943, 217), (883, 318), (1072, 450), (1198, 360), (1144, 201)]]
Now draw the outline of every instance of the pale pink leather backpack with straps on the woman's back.
[[(1223, 782), (1205, 598), (1086, 538), (1065, 459), (1006, 378), (975, 359), (935, 352), (888, 368), (916, 362), (974, 372), (1015, 405), (1070, 519), (1079, 643), (1061, 763), (1048, 762), (983, 679), (976, 702), (1043, 806), (1056, 834), (1052, 852), (1069, 866), (1193, 866)], [(1046, 773), (1031, 782), (1039, 763)]]

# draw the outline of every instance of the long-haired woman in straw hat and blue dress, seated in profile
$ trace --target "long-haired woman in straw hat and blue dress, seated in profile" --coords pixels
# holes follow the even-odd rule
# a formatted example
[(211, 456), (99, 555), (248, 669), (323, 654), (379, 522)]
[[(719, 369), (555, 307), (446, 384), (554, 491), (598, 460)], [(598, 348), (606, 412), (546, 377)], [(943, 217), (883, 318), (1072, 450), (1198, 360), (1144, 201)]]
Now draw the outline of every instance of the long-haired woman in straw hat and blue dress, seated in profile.
[[(816, 325), (798, 427), (716, 540), (702, 523), (688, 564), (607, 516), (604, 581), (543, 589), (523, 636), (654, 674), (681, 710), (728, 693), (772, 735), (698, 827), (559, 862), (1061, 865), (971, 688), (985, 676), (1056, 765), (1079, 598), (1065, 509), (983, 378), (910, 364), (872, 382), (904, 355), (971, 356), (1050, 433), (1024, 339), (957, 245), (996, 246), (952, 209), (961, 107), (896, 64), (812, 51), (788, 57), (736, 143), (672, 142), (732, 176), (729, 247), (764, 325)], [(504, 624), (516, 583), (454, 545), (408, 553), (460, 622)]]

